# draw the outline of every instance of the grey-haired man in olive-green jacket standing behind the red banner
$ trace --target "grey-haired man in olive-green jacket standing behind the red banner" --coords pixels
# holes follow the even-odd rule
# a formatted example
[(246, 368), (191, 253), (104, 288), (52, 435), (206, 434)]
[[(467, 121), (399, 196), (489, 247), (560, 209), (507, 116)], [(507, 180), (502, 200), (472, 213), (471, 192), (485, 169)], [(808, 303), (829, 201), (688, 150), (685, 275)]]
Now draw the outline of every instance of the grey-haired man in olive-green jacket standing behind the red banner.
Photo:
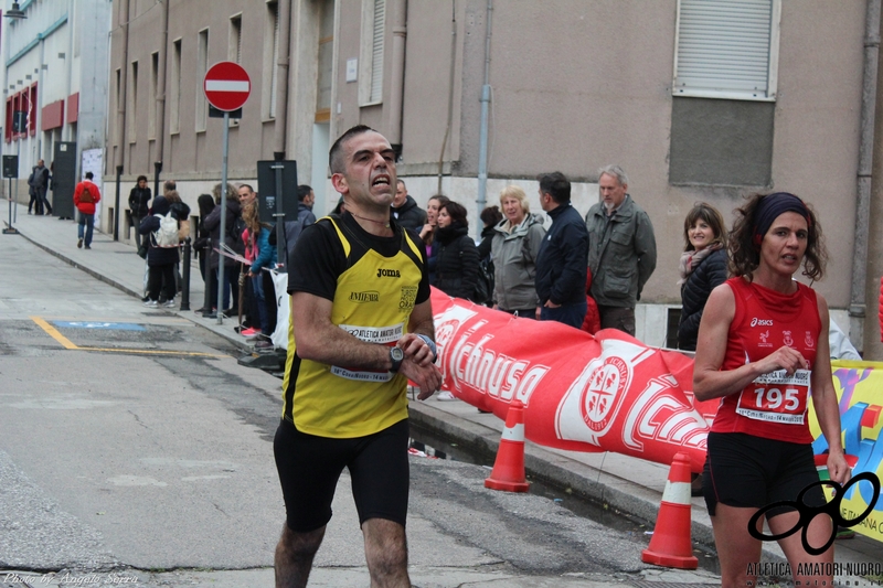
[(653, 225), (628, 194), (628, 178), (619, 165), (598, 171), (598, 191), (602, 201), (586, 214), (592, 297), (602, 329), (635, 336), (635, 306), (656, 269)]

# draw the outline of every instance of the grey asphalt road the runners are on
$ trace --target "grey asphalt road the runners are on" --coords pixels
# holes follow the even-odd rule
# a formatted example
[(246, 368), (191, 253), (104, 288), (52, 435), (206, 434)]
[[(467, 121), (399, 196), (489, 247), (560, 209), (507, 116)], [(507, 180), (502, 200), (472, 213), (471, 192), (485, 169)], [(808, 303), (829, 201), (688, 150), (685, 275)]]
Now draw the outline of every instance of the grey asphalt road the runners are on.
[[(279, 381), (210, 331), (2, 238), (0, 587), (272, 585)], [(487, 474), (412, 458), (415, 585), (647, 580), (639, 533), (489, 491)], [(334, 513), (311, 585), (365, 586), (345, 473)]]

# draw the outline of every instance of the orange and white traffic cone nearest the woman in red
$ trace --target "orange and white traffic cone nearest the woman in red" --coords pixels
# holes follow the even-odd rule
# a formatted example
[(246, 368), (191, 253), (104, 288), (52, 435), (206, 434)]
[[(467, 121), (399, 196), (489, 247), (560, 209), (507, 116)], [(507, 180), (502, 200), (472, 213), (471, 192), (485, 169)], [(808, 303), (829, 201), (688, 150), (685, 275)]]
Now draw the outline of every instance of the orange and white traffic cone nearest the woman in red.
[(650, 546), (641, 552), (641, 562), (680, 569), (699, 566), (690, 537), (690, 456), (687, 453), (678, 453), (671, 462), (653, 537)]

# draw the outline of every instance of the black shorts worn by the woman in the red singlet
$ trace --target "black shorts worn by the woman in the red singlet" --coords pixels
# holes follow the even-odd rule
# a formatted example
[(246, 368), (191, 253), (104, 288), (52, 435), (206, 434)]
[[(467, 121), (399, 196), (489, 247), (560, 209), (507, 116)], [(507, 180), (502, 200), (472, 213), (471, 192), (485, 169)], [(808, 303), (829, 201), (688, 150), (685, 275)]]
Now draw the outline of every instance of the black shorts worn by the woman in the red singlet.
[[(819, 481), (812, 447), (765, 439), (743, 432), (710, 432), (702, 490), (709, 514), (717, 503), (762, 509), (779, 501), (796, 501), (801, 490)], [(827, 502), (820, 485), (804, 495), (810, 506)], [(781, 506), (767, 517), (794, 511)]]

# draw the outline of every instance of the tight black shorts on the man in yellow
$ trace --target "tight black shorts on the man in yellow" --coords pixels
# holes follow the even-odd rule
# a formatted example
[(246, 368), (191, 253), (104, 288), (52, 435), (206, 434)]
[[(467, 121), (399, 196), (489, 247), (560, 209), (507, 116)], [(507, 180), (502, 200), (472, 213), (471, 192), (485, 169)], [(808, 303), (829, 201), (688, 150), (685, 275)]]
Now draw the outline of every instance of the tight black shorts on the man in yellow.
[(343, 468), (350, 470), (360, 525), (369, 518), (385, 518), (405, 526), (407, 442), (407, 419), (353, 439), (307, 435), (283, 419), (273, 451), (288, 528), (306, 533), (331, 520), (331, 501)]

